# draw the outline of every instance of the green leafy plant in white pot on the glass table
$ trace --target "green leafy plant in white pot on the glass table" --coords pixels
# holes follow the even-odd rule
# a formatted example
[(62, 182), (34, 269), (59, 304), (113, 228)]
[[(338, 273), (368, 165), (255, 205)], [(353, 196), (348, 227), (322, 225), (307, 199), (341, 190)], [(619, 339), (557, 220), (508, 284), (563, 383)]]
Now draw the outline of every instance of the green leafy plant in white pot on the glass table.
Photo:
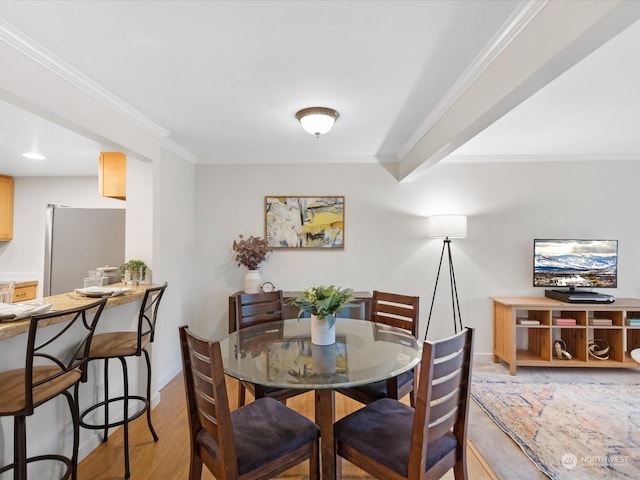
[(300, 309), (298, 318), (308, 312), (311, 315), (311, 343), (331, 345), (336, 341), (336, 314), (344, 308), (355, 306), (353, 290), (335, 285), (307, 288), (287, 303)]

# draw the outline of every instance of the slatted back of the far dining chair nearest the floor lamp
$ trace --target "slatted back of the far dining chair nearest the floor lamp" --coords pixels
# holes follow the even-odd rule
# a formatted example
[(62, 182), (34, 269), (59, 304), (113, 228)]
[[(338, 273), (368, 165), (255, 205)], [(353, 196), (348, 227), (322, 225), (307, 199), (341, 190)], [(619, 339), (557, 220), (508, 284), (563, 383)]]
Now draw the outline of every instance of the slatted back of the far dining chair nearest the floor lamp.
[(373, 291), (371, 320), (410, 331), (418, 335), (420, 297)]

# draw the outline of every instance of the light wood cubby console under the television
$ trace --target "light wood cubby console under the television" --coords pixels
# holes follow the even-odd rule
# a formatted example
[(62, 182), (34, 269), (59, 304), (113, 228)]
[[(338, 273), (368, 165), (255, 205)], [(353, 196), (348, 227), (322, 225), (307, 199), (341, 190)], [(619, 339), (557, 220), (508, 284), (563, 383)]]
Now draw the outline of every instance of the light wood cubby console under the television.
[[(509, 367), (640, 367), (629, 355), (640, 348), (640, 326), (627, 319), (640, 319), (640, 299), (618, 298), (608, 304), (565, 303), (547, 297), (492, 297), (493, 359)], [(556, 325), (557, 319), (575, 319), (575, 325)], [(607, 319), (611, 325), (594, 325)], [(521, 324), (524, 320), (533, 324)], [(597, 322), (597, 320), (595, 320)], [(610, 321), (610, 322), (609, 322)], [(554, 343), (568, 353), (556, 355)], [(608, 359), (596, 358), (590, 342), (601, 340), (609, 346)], [(597, 349), (595, 353), (598, 353)], [(571, 358), (569, 358), (571, 357)]]

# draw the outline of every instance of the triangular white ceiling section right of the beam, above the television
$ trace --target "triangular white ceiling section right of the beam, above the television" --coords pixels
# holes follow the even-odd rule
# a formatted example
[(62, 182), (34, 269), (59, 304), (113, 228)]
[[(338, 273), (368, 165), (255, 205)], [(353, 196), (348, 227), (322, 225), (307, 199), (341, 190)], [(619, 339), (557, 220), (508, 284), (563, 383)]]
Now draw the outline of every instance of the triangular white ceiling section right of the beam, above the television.
[(453, 155), (640, 160), (639, 48), (636, 22)]

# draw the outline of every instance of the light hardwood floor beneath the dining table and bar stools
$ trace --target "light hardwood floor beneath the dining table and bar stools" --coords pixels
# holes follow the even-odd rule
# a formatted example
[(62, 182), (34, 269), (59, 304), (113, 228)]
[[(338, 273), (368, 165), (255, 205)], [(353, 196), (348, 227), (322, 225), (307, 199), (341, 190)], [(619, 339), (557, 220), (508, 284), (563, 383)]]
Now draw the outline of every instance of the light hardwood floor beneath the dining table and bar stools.
[[(229, 399), (237, 402), (237, 382), (227, 378)], [(185, 394), (182, 374), (177, 375), (161, 391), (161, 402), (152, 412), (153, 425), (160, 439), (154, 442), (144, 417), (129, 426), (129, 452), (132, 480), (186, 480), (189, 478), (189, 434), (186, 418)], [(250, 401), (251, 396), (248, 395)], [(305, 393), (289, 399), (287, 406), (313, 419), (313, 393)], [(359, 408), (360, 404), (336, 394), (336, 417)], [(124, 478), (124, 452), (122, 427), (91, 452), (78, 466), (79, 480), (111, 480)], [(471, 480), (496, 480), (497, 477), (469, 445), (468, 471)], [(342, 462), (345, 480), (371, 478), (346, 461)], [(308, 467), (302, 464), (288, 470), (280, 479), (298, 480), (307, 477)], [(211, 473), (203, 468), (202, 480), (212, 480)], [(453, 479), (449, 472), (445, 477)]]

